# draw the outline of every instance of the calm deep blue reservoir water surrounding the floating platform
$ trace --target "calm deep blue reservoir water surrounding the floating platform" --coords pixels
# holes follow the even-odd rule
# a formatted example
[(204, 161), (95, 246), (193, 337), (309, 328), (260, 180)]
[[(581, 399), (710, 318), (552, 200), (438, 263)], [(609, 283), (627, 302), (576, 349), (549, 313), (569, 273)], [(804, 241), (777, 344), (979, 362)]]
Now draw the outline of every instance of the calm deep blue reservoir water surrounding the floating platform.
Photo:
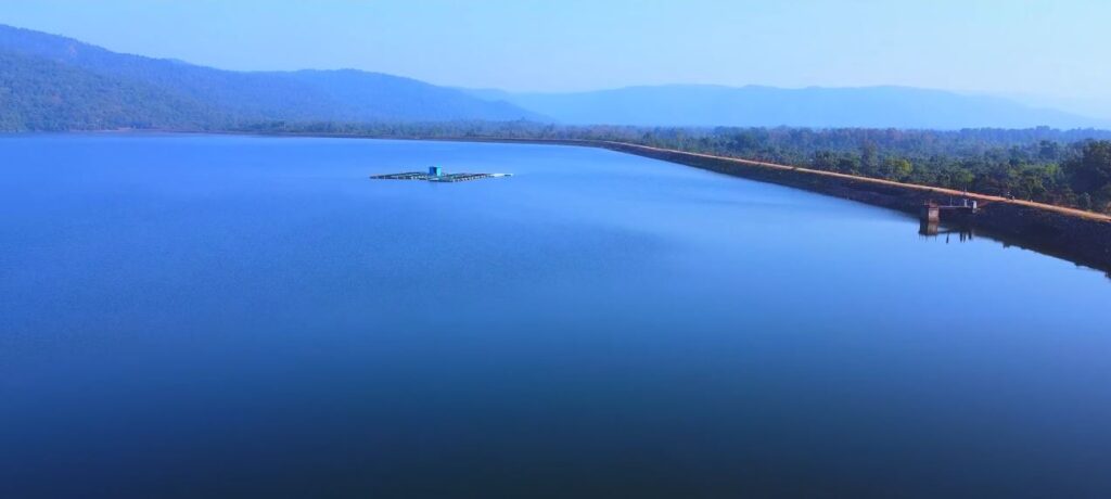
[[(509, 172), (464, 183), (369, 180)], [(0, 497), (1111, 497), (1111, 281), (585, 148), (0, 138)]]

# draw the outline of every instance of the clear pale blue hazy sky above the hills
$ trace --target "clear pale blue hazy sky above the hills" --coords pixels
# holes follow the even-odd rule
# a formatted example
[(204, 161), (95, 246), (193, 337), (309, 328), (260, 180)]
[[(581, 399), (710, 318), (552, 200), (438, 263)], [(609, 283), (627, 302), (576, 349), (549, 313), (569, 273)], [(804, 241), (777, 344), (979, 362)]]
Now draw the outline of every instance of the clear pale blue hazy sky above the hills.
[(0, 0), (0, 22), (227, 69), (434, 83), (903, 84), (1111, 101), (1111, 0)]

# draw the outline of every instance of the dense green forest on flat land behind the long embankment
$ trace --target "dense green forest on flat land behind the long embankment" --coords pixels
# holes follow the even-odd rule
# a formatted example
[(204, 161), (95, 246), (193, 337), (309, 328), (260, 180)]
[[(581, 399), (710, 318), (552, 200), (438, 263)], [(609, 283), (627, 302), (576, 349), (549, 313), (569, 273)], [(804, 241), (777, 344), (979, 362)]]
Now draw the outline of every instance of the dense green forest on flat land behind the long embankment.
[(1111, 131), (560, 127), (527, 121), (268, 122), (240, 131), (613, 140), (1111, 212)]

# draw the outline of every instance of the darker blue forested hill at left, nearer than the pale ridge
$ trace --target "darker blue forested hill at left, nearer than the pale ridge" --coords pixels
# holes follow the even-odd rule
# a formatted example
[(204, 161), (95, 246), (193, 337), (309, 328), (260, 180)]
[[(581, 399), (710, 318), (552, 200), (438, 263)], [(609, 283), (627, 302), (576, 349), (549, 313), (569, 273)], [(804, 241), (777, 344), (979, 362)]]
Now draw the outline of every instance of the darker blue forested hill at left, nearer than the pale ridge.
[(0, 130), (541, 119), (507, 102), (389, 74), (223, 71), (2, 24), (0, 58)]

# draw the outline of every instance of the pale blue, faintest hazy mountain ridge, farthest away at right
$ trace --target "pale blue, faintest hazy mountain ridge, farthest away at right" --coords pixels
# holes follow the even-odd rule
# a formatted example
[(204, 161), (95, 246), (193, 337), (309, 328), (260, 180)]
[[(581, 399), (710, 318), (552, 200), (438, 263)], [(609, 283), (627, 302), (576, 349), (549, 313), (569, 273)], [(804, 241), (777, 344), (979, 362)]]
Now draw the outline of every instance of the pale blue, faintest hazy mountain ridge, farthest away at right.
[(671, 84), (568, 93), (470, 90), (568, 124), (812, 128), (1108, 128), (1111, 122), (987, 96), (907, 87), (782, 89)]

